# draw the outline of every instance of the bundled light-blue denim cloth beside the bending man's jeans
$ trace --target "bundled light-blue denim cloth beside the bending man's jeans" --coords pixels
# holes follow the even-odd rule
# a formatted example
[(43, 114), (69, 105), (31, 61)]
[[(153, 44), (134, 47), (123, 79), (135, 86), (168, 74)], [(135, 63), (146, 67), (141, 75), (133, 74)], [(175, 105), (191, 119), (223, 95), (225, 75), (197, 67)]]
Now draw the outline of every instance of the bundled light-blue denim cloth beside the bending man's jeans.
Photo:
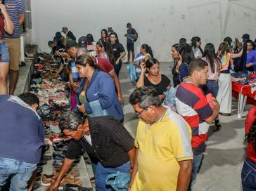
[(105, 184), (110, 185), (115, 191), (124, 191), (128, 190), (130, 179), (131, 175), (129, 173), (117, 171), (117, 173), (108, 175)]

